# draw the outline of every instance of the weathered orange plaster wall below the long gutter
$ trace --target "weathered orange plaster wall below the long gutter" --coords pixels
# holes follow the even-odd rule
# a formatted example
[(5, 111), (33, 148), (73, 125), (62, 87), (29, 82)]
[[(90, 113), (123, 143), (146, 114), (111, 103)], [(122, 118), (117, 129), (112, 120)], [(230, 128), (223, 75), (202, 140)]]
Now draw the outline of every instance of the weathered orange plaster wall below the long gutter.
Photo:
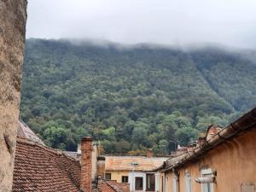
[[(195, 183), (195, 177), (201, 177), (201, 169), (211, 168), (217, 172), (214, 192), (256, 191), (256, 130), (236, 137), (233, 141), (214, 148), (201, 160), (179, 169), (180, 192), (185, 192), (184, 175), (188, 172), (192, 177), (192, 191), (201, 191), (201, 184)], [(172, 190), (171, 172), (169, 187)], [(171, 178), (171, 179), (170, 179)], [(253, 187), (254, 186), (254, 187)], [(241, 188), (245, 188), (242, 190)]]

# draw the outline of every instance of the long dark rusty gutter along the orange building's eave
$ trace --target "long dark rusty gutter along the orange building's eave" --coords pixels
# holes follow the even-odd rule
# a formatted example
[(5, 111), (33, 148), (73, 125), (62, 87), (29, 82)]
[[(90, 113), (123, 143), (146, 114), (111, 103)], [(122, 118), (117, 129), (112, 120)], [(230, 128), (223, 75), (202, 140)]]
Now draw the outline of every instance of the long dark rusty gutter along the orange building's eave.
[(191, 160), (198, 160), (199, 156), (202, 154), (206, 154), (212, 148), (215, 148), (219, 144), (238, 136), (240, 133), (249, 131), (255, 125), (256, 108), (253, 108), (253, 110), (243, 115), (240, 119), (237, 119), (235, 122), (225, 127), (222, 131), (219, 131), (216, 135), (208, 139), (206, 143), (203, 143), (193, 151), (188, 152), (182, 160), (179, 160), (177, 163), (172, 164), (172, 166), (167, 167), (163, 172), (183, 166)]

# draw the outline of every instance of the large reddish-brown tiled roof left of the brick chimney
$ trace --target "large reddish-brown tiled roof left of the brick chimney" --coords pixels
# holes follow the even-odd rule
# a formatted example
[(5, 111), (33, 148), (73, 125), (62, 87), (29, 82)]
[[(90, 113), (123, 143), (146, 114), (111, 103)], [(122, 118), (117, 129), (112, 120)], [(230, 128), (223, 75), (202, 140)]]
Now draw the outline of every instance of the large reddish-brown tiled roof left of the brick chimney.
[(79, 192), (79, 161), (17, 137), (13, 192)]

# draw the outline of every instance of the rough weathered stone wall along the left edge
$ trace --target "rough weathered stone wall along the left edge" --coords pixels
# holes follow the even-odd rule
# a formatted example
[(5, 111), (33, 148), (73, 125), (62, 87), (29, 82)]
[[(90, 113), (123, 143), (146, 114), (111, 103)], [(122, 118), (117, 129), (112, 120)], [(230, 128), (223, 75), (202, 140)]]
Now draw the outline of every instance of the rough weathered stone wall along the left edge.
[(0, 0), (0, 192), (12, 185), (25, 26), (26, 0)]

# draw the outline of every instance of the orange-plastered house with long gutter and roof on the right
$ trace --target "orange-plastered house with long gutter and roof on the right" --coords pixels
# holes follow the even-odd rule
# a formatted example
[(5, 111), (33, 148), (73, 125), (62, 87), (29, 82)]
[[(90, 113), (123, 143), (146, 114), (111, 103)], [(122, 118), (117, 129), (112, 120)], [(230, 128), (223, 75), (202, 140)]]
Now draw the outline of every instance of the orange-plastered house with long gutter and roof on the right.
[(161, 192), (256, 191), (256, 108), (158, 168)]

